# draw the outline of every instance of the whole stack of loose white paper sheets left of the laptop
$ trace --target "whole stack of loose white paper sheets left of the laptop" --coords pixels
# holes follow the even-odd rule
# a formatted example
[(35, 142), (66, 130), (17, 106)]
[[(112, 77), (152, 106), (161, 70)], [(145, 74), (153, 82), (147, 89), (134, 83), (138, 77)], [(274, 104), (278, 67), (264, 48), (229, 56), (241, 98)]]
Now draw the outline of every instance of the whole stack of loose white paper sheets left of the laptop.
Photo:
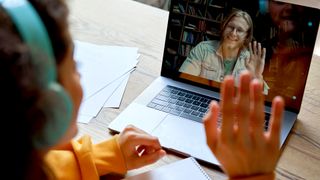
[(74, 41), (74, 58), (84, 92), (78, 122), (88, 123), (102, 107), (119, 107), (138, 48)]

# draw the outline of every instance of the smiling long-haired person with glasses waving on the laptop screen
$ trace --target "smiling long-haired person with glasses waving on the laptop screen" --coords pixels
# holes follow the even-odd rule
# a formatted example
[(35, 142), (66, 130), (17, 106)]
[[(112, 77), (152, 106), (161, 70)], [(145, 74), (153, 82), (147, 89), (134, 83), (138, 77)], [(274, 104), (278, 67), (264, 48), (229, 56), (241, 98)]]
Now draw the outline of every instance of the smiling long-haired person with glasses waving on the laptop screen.
[[(226, 75), (238, 79), (249, 70), (263, 82), (266, 49), (253, 41), (253, 23), (245, 11), (232, 12), (221, 26), (221, 40), (209, 40), (194, 47), (179, 71), (209, 80), (222, 82)], [(238, 84), (238, 80), (236, 80)], [(264, 83), (264, 92), (268, 86)]]

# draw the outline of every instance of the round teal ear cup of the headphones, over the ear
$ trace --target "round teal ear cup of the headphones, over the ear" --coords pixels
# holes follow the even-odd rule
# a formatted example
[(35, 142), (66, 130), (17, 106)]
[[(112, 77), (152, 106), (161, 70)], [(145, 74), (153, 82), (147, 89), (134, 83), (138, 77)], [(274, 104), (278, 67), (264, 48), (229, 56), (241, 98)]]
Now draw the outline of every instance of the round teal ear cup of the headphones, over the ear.
[(67, 92), (56, 82), (50, 83), (37, 102), (45, 123), (34, 137), (36, 148), (48, 148), (55, 145), (67, 132), (72, 121), (72, 101)]

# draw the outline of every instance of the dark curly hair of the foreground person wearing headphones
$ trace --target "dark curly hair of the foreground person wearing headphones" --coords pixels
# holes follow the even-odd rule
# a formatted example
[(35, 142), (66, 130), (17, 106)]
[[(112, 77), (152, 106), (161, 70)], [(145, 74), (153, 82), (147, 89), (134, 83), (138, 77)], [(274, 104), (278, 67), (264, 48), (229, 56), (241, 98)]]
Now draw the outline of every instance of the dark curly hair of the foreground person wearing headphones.
[[(57, 65), (71, 45), (68, 9), (63, 0), (29, 0), (44, 22)], [(1, 117), (5, 153), (5, 173), (10, 179), (46, 179), (42, 157), (36, 153), (32, 136), (46, 119), (37, 107), (41, 88), (31, 63), (28, 47), (10, 17), (0, 5)], [(10, 130), (8, 134), (6, 129)], [(14, 176), (14, 177), (13, 177)], [(13, 178), (12, 178), (13, 177)]]

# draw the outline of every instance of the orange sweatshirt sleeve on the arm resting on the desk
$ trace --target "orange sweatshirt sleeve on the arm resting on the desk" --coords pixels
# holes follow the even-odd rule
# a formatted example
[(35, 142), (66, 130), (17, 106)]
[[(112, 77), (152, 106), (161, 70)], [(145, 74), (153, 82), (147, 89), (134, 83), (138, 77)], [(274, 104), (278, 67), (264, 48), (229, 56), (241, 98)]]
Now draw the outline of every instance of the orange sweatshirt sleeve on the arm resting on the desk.
[(108, 173), (125, 174), (125, 160), (118, 136), (92, 144), (89, 136), (72, 141), (71, 150), (51, 150), (45, 156), (48, 176), (52, 179), (99, 179)]

